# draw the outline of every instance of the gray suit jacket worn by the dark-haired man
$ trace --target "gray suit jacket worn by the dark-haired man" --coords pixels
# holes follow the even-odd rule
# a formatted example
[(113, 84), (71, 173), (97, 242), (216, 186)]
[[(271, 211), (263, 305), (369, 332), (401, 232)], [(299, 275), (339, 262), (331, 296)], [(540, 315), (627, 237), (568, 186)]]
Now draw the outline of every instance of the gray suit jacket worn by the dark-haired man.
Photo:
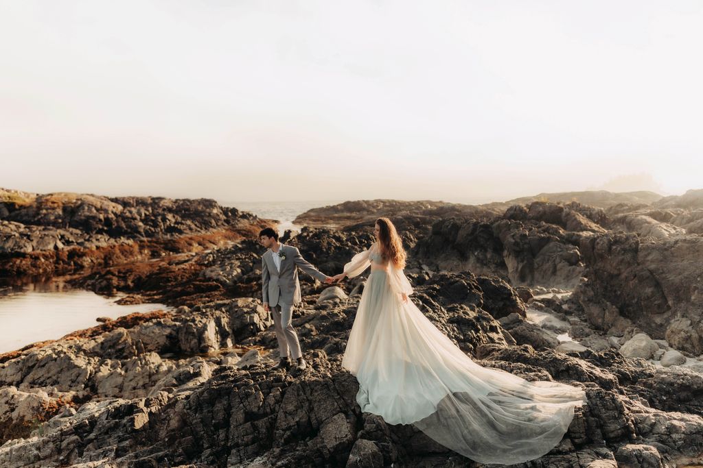
[[(281, 252), (285, 255), (285, 259), (280, 260), (279, 272), (273, 262), (273, 255), (278, 255)], [(280, 244), (278, 253), (273, 253), (269, 248), (262, 255), (262, 295), (264, 302), (268, 302), (270, 306), (278, 305), (279, 301), (288, 305), (296, 305), (302, 302), (297, 267), (300, 267), (302, 271), (320, 281), (325, 281), (326, 276), (318, 272), (314, 266), (302, 258), (300, 251), (293, 246)]]

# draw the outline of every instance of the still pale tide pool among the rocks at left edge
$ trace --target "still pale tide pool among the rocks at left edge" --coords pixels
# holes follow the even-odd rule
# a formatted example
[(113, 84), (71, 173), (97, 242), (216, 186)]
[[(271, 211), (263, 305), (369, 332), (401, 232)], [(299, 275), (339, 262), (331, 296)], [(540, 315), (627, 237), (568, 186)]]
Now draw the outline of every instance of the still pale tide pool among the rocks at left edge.
[(0, 353), (32, 342), (56, 340), (82, 328), (99, 325), (98, 317), (169, 310), (163, 304), (117, 305), (124, 294), (104, 297), (74, 289), (60, 279), (0, 289)]

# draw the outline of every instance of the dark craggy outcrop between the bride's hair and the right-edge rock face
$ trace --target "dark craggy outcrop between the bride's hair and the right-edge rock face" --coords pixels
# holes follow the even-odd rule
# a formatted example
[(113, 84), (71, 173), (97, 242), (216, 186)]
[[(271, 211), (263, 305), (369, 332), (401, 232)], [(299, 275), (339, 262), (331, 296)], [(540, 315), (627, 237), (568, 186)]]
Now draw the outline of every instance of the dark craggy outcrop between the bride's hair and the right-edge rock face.
[[(588, 214), (600, 219), (598, 213)], [(572, 288), (585, 272), (579, 243), (603, 232), (577, 209), (536, 202), (509, 208), (503, 218), (489, 222), (437, 220), (413, 255), (430, 269), (498, 274), (513, 286)]]

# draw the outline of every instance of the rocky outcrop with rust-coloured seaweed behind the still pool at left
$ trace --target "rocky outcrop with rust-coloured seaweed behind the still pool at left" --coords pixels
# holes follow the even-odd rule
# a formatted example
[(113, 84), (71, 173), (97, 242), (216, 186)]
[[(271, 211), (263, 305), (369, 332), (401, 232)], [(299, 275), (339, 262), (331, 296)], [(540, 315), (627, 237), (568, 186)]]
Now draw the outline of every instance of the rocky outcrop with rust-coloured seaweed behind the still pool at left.
[(211, 199), (0, 189), (0, 279), (56, 275), (223, 246), (263, 221)]

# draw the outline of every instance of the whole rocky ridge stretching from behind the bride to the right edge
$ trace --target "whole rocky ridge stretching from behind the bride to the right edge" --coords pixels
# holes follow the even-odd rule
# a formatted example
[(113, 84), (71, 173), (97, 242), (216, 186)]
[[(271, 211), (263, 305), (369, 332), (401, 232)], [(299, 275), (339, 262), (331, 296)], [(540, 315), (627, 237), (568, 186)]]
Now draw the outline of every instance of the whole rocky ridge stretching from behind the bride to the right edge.
[(643, 209), (614, 214), (574, 202), (534, 202), (487, 221), (441, 219), (416, 243), (413, 258), (428, 270), (574, 289), (576, 308), (600, 330), (622, 336), (636, 326), (702, 354), (703, 238), (665, 211), (648, 208), (659, 221)]

